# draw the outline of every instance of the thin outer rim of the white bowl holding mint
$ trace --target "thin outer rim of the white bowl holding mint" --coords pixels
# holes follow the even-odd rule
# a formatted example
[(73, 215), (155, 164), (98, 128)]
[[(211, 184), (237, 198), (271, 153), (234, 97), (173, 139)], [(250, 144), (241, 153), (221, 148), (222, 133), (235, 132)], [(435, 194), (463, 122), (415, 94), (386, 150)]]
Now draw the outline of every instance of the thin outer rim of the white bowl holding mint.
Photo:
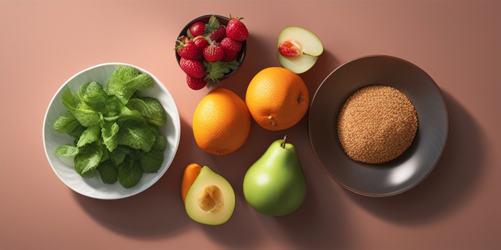
[[(166, 167), (165, 169), (162, 171), (162, 172), (158, 172), (157, 173), (157, 176), (155, 176), (155, 178), (153, 178), (147, 185), (145, 185), (144, 187), (142, 187), (141, 189), (138, 189), (136, 191), (133, 191), (133, 192), (129, 192), (129, 193), (126, 193), (126, 194), (122, 194), (122, 195), (117, 195), (117, 196), (98, 196), (98, 195), (93, 195), (93, 194), (89, 194), (89, 193), (85, 193), (77, 188), (75, 188), (73, 185), (71, 185), (70, 183), (68, 183), (68, 181), (60, 175), (60, 173), (56, 170), (54, 164), (52, 163), (50, 157), (49, 157), (49, 152), (47, 150), (47, 143), (46, 143), (46, 135), (45, 135), (45, 131), (46, 131), (46, 124), (47, 124), (47, 116), (49, 114), (49, 110), (52, 106), (52, 103), (56, 100), (56, 97), (58, 95), (58, 93), (63, 89), (65, 88), (69, 82), (71, 82), (74, 78), (76, 78), (77, 76), (79, 76), (80, 74), (82, 73), (85, 73), (87, 71), (90, 71), (90, 70), (93, 70), (95, 68), (99, 68), (99, 67), (103, 67), (103, 66), (108, 66), (108, 65), (127, 65), (127, 66), (132, 66), (132, 67), (135, 67), (137, 68), (141, 73), (147, 73), (148, 75), (150, 75), (153, 80), (155, 81), (155, 84), (157, 84), (162, 90), (164, 90), (164, 92), (167, 94), (167, 96), (169, 97), (169, 99), (172, 100), (172, 111), (174, 111), (174, 115), (175, 117), (177, 117), (176, 119), (173, 119), (173, 121), (175, 122), (174, 123), (174, 127), (177, 127), (177, 130), (176, 131), (176, 140), (175, 140), (175, 145), (173, 147), (173, 150), (172, 150), (172, 157), (170, 157), (169, 161), (167, 162), (166, 164)], [(146, 189), (148, 189), (150, 186), (152, 186), (154, 183), (156, 183), (160, 177), (163, 176), (163, 174), (165, 174), (165, 172), (167, 171), (167, 169), (169, 168), (169, 166), (172, 164), (172, 161), (174, 160), (174, 157), (175, 157), (175, 154), (177, 152), (177, 149), (179, 147), (179, 142), (180, 142), (180, 139), (181, 139), (181, 136), (180, 136), (180, 133), (181, 133), (181, 124), (180, 124), (180, 116), (179, 116), (179, 110), (177, 108), (177, 105), (174, 101), (174, 98), (172, 96), (172, 94), (169, 92), (169, 90), (165, 87), (165, 85), (163, 84), (162, 81), (160, 81), (160, 79), (158, 79), (155, 75), (153, 75), (151, 72), (149, 72), (148, 70), (142, 68), (142, 67), (139, 67), (139, 66), (136, 66), (136, 65), (133, 65), (133, 64), (130, 64), (130, 63), (125, 63), (125, 62), (105, 62), (105, 63), (99, 63), (99, 64), (96, 64), (96, 65), (93, 65), (93, 66), (90, 66), (90, 67), (87, 67), (77, 73), (75, 73), (73, 76), (71, 76), (68, 80), (66, 80), (59, 88), (58, 90), (54, 93), (53, 97), (51, 98), (48, 106), (47, 106), (47, 109), (45, 111), (45, 115), (44, 115), (44, 120), (43, 120), (43, 125), (42, 125), (42, 142), (43, 142), (43, 145), (44, 145), (44, 151), (45, 151), (45, 155), (47, 157), (47, 160), (49, 162), (49, 164), (51, 165), (51, 168), (52, 170), (54, 171), (54, 173), (56, 173), (56, 175), (58, 176), (58, 178), (68, 187), (70, 187), (72, 190), (74, 190), (75, 192), (77, 193), (80, 193), (82, 195), (85, 195), (85, 196), (88, 196), (88, 197), (91, 197), (91, 198), (97, 198), (97, 199), (120, 199), (120, 198), (126, 198), (126, 197), (130, 197), (130, 196), (133, 196), (135, 194), (138, 194)]]

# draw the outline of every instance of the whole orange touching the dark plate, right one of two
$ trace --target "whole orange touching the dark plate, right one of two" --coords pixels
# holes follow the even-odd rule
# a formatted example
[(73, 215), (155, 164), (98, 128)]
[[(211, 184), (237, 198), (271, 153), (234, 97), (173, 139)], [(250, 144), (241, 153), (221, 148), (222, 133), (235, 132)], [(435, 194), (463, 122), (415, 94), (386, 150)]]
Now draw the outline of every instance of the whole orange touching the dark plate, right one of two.
[(269, 130), (282, 130), (305, 116), (310, 93), (297, 73), (283, 67), (268, 67), (250, 80), (245, 102), (258, 124)]

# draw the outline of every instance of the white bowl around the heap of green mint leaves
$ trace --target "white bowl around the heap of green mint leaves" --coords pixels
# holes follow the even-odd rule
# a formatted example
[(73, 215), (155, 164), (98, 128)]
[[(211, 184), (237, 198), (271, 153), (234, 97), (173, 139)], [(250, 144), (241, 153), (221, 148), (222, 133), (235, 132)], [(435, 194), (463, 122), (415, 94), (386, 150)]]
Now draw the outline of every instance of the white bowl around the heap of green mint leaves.
[[(58, 132), (52, 127), (54, 121), (67, 111), (66, 107), (61, 102), (63, 90), (68, 86), (72, 92), (75, 93), (80, 85), (89, 81), (97, 81), (104, 85), (110, 78), (112, 72), (119, 65), (133, 66), (139, 69), (141, 73), (149, 74), (153, 78), (155, 84), (152, 88), (141, 91), (141, 93), (144, 96), (157, 98), (160, 103), (162, 103), (162, 106), (167, 113), (166, 124), (159, 128), (160, 133), (167, 138), (167, 148), (164, 150), (165, 157), (162, 166), (157, 173), (143, 174), (139, 183), (129, 189), (124, 188), (120, 185), (120, 183), (118, 183), (118, 181), (111, 185), (103, 183), (98, 172), (96, 172), (96, 176), (92, 178), (83, 178), (75, 171), (73, 157), (60, 157), (54, 154), (56, 147), (64, 144), (73, 145), (74, 141), (74, 138), (67, 133)], [(59, 88), (52, 98), (45, 114), (43, 140), (45, 153), (52, 169), (67, 186), (74, 191), (89, 197), (99, 199), (119, 199), (144, 191), (160, 179), (160, 177), (162, 177), (169, 165), (172, 163), (174, 155), (176, 154), (177, 147), (179, 145), (180, 131), (181, 125), (177, 106), (172, 98), (172, 95), (157, 77), (150, 72), (131, 64), (103, 63), (82, 70), (72, 76)]]

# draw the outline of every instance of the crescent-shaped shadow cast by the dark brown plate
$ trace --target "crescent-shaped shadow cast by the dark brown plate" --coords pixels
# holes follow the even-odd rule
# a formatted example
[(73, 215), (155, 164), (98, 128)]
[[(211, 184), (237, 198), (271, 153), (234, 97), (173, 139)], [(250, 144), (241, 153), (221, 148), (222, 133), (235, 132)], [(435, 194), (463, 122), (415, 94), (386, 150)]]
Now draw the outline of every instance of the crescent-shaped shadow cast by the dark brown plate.
[(440, 161), (426, 179), (404, 193), (366, 197), (349, 192), (368, 211), (397, 223), (429, 223), (452, 213), (474, 194), (483, 167), (485, 135), (461, 103), (442, 92), (449, 134)]

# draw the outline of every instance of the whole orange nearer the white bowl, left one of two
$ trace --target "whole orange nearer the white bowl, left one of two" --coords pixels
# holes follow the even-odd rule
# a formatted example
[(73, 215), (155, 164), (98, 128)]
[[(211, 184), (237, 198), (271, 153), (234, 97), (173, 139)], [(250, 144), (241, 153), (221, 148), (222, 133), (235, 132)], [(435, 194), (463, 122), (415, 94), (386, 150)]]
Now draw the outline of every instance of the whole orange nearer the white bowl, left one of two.
[(205, 95), (193, 113), (193, 135), (204, 151), (224, 155), (240, 148), (250, 132), (250, 113), (245, 102), (227, 88)]

